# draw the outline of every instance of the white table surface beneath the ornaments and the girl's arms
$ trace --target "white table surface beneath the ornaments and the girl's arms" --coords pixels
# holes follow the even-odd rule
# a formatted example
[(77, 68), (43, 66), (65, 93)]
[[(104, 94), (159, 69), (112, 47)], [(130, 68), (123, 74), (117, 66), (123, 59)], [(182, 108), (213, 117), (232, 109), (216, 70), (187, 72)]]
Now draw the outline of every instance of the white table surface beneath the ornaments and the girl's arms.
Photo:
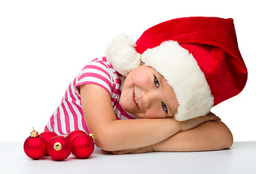
[(231, 149), (215, 152), (152, 152), (101, 154), (96, 148), (88, 159), (72, 154), (64, 161), (51, 157), (33, 160), (23, 142), (0, 141), (0, 173), (256, 173), (256, 141), (234, 142)]

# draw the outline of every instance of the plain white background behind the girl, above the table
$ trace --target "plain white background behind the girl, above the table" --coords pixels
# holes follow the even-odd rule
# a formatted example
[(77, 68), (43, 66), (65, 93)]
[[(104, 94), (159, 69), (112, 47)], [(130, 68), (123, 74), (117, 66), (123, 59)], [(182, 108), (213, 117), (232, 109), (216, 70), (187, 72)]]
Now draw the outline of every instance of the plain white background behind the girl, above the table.
[[(134, 41), (176, 17), (234, 18), (249, 71), (238, 96), (212, 109), (234, 141), (256, 140), (255, 4), (253, 1), (0, 1), (0, 141), (44, 131), (65, 89), (91, 59), (104, 56), (118, 33)], [(216, 38), (217, 39), (217, 38)]]

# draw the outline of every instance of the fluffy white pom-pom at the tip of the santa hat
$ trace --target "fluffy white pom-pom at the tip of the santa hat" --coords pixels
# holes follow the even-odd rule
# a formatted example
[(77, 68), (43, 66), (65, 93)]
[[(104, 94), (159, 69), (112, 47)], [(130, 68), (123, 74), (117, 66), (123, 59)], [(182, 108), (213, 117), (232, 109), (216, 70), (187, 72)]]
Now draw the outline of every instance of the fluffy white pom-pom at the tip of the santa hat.
[(107, 46), (106, 55), (121, 75), (127, 76), (131, 70), (141, 65), (141, 54), (135, 50), (134, 41), (125, 34), (112, 39)]

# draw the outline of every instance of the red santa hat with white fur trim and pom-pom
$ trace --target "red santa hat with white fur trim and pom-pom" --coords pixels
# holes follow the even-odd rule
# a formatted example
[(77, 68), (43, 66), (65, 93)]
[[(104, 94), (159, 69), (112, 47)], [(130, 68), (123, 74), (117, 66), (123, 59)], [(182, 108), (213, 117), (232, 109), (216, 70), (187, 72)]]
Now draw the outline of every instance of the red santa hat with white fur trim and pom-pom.
[(141, 62), (160, 72), (176, 94), (178, 121), (206, 115), (247, 82), (232, 19), (168, 20), (144, 31), (136, 43), (124, 34), (116, 36), (106, 53), (122, 75)]

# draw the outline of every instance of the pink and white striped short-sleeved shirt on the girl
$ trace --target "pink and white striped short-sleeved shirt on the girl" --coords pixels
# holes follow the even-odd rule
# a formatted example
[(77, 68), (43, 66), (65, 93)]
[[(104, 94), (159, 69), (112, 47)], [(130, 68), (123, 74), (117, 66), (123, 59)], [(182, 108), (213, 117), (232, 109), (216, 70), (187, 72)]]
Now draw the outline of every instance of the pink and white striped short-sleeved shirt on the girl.
[(94, 59), (70, 83), (59, 107), (51, 115), (44, 130), (53, 131), (58, 135), (67, 135), (73, 130), (83, 130), (89, 133), (83, 117), (79, 90), (79, 86), (85, 84), (101, 86), (110, 94), (117, 120), (134, 119), (135, 117), (125, 112), (120, 105), (124, 80), (125, 77), (120, 75), (110, 62), (107, 62), (107, 57)]

